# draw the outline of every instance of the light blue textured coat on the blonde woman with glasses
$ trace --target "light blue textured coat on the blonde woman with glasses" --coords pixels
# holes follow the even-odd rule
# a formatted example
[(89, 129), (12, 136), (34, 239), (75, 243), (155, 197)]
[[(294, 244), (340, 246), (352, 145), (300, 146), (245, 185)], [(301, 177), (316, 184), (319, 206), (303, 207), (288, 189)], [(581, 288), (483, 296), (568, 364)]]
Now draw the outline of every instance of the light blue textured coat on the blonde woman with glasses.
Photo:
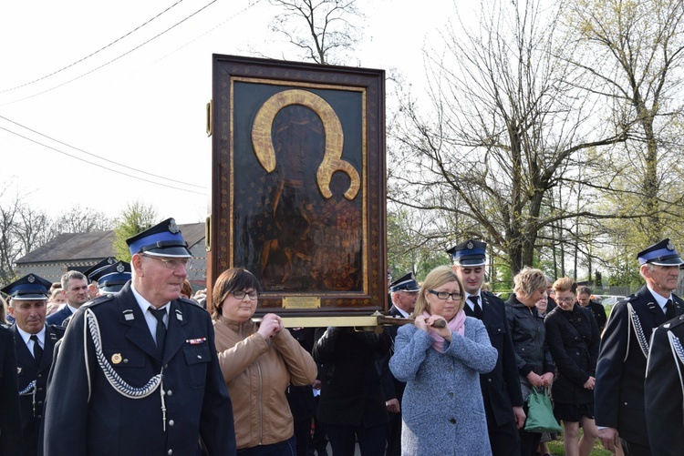
[(406, 381), (401, 400), (401, 453), (407, 456), (491, 455), (480, 374), (497, 352), (482, 321), (468, 317), (465, 337), (453, 334), (444, 353), (413, 325), (399, 328), (389, 370)]

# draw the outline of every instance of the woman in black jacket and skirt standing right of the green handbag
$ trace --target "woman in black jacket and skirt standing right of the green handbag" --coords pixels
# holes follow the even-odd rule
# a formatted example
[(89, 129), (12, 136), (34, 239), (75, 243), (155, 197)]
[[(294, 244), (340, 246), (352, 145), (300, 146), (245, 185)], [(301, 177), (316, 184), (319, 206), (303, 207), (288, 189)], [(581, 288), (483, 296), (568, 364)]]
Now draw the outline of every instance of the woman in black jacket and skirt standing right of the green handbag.
[[(544, 326), (558, 372), (551, 392), (554, 415), (563, 421), (565, 454), (588, 456), (598, 433), (594, 422), (594, 376), (600, 336), (591, 312), (575, 303), (576, 289), (573, 279), (554, 282), (558, 307), (546, 316)], [(584, 435), (578, 443), (580, 423)]]

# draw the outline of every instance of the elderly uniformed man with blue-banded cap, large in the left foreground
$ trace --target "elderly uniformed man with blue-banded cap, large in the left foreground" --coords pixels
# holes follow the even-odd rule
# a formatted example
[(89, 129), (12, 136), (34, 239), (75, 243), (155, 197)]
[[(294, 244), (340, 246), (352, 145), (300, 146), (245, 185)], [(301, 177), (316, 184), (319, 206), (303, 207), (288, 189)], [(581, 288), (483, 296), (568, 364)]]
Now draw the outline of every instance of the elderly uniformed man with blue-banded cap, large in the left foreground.
[(192, 254), (172, 218), (126, 241), (132, 279), (74, 315), (52, 374), (45, 454), (235, 454), (206, 310), (180, 299)]

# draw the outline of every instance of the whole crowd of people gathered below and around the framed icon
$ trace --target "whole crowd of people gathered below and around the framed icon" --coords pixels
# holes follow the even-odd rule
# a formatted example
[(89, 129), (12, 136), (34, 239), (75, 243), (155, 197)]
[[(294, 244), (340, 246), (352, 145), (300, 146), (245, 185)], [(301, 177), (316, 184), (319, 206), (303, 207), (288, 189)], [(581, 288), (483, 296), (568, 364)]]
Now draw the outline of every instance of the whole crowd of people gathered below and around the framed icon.
[(609, 319), (591, 289), (529, 267), (504, 302), (469, 239), (422, 284), (391, 281), (396, 324), (376, 331), (255, 319), (262, 285), (241, 268), (210, 315), (172, 218), (127, 243), (130, 263), (2, 289), (0, 455), (326, 456), (329, 441), (335, 456), (534, 456), (548, 439), (525, 429), (528, 398), (544, 391), (568, 456), (599, 439), (684, 454), (684, 260), (668, 239), (639, 252), (646, 285)]

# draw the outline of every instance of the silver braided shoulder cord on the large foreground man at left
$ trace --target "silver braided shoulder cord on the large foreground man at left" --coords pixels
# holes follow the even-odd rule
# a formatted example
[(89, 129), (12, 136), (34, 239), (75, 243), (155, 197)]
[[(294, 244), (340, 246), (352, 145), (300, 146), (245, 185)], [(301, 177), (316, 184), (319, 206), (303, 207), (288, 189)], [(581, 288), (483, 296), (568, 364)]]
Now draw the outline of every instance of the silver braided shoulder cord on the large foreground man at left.
[(161, 372), (152, 377), (142, 388), (130, 386), (125, 380), (121, 379), (117, 371), (111, 367), (111, 364), (109, 364), (109, 361), (102, 352), (102, 339), (99, 333), (98, 319), (91, 309), (86, 310), (85, 318), (88, 324), (83, 325), (83, 351), (85, 353), (86, 375), (88, 376), (88, 402), (90, 401), (90, 393), (92, 390), (90, 385), (90, 368), (88, 367), (89, 329), (90, 339), (92, 339), (93, 346), (95, 347), (95, 357), (98, 360), (99, 368), (102, 370), (105, 378), (109, 381), (109, 385), (111, 385), (114, 390), (129, 399), (142, 399), (150, 396), (154, 390), (159, 388), (161, 395), (161, 420), (163, 421), (164, 431), (166, 431), (166, 403), (164, 401), (165, 392), (163, 386), (164, 368), (162, 367)]

